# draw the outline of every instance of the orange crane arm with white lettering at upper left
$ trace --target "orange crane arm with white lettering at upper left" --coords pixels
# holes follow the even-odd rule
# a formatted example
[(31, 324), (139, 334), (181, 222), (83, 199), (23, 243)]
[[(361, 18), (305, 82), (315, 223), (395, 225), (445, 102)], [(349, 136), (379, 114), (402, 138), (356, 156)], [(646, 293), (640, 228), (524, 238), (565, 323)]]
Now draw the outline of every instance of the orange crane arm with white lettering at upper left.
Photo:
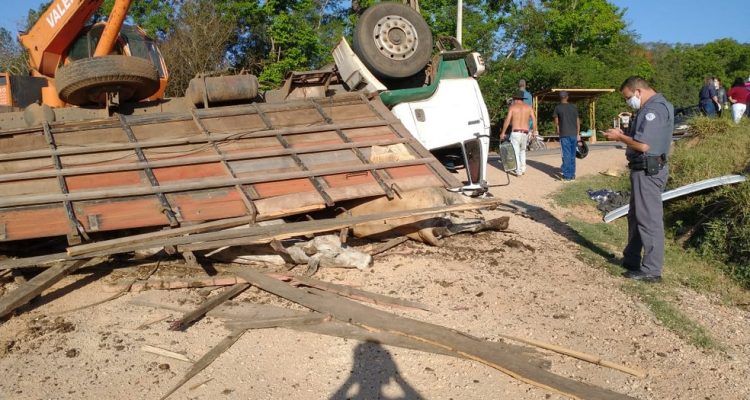
[[(29, 51), (29, 64), (37, 73), (52, 77), (63, 54), (104, 0), (54, 0), (29, 30), (20, 35)], [(132, 0), (116, 0), (95, 55), (112, 51)]]

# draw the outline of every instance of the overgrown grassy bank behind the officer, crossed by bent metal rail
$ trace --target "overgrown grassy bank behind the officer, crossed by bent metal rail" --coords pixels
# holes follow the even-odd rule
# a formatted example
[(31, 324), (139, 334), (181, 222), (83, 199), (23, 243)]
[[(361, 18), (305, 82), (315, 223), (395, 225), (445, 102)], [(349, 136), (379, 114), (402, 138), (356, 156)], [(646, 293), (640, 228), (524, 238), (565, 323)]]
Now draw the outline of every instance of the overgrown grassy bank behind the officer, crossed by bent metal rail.
[[(675, 144), (670, 186), (750, 172), (750, 123), (699, 117), (693, 134)], [(727, 264), (750, 288), (750, 181), (670, 202), (668, 226), (702, 254)]]

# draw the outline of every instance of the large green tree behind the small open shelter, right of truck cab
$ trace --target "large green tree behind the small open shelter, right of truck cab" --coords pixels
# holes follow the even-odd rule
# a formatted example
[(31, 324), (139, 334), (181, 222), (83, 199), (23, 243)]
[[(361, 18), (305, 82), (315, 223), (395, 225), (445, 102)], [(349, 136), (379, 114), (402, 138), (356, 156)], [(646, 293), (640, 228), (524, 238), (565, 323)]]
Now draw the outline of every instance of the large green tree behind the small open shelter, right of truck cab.
[[(500, 37), (500, 51), (480, 80), (493, 122), (504, 117), (505, 101), (526, 79), (531, 92), (550, 88), (619, 88), (628, 76), (647, 79), (653, 67), (627, 30), (623, 11), (605, 0), (542, 0), (515, 3)], [(580, 104), (584, 109), (586, 104)], [(597, 101), (596, 126), (611, 126), (623, 111), (619, 94)], [(550, 129), (553, 104), (540, 105), (542, 128)], [(584, 126), (588, 115), (582, 113)]]

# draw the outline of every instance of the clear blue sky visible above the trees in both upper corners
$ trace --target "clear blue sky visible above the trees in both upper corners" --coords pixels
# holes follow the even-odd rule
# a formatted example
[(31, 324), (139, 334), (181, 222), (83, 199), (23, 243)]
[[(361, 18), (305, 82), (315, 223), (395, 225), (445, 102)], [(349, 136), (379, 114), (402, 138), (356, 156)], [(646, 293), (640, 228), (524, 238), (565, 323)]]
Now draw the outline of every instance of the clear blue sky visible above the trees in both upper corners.
[[(627, 8), (625, 20), (642, 42), (708, 43), (732, 38), (750, 43), (750, 0), (610, 0)], [(42, 0), (3, 0), (0, 26), (15, 33)]]

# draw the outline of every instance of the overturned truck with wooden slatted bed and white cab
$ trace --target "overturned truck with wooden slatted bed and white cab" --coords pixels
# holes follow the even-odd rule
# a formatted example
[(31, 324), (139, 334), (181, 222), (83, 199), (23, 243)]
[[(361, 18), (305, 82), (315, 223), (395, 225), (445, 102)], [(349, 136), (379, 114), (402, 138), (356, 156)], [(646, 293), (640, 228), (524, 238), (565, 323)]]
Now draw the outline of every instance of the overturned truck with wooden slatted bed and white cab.
[(335, 67), (264, 93), (252, 75), (198, 77), (185, 97), (149, 100), (97, 69), (122, 56), (61, 66), (58, 94), (78, 106), (0, 114), (0, 241), (263, 221), (424, 187), (484, 194), (482, 60), (442, 43), (432, 56), (421, 16), (381, 3)]

